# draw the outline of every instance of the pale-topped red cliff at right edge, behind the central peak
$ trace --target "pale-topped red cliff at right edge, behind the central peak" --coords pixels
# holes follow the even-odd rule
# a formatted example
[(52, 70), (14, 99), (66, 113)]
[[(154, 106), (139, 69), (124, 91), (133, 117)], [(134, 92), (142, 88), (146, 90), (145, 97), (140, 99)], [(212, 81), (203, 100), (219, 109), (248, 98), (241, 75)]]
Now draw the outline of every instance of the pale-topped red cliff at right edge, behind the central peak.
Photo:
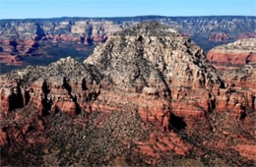
[(240, 39), (213, 48), (207, 58), (220, 70), (238, 69), (256, 63), (256, 38)]

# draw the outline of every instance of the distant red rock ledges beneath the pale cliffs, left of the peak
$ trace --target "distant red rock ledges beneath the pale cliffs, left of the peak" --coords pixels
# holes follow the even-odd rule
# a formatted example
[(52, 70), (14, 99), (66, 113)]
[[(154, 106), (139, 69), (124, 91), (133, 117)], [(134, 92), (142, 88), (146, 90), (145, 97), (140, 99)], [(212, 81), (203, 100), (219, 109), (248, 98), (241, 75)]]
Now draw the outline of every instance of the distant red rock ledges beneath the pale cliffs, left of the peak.
[[(35, 37), (36, 38), (36, 37)], [(47, 41), (46, 47), (54, 45), (56, 43), (67, 43), (72, 44), (100, 44), (106, 40), (106, 35), (95, 35), (95, 36), (72, 36), (65, 34), (56, 35), (45, 35), (40, 40), (35, 39), (16, 39), (16, 40), (0, 40), (0, 63), (7, 66), (21, 66), (26, 65), (24, 58), (32, 57), (34, 53), (44, 53), (42, 50), (44, 47), (39, 47), (39, 43)], [(75, 46), (74, 46), (75, 47)], [(79, 50), (80, 48), (76, 48)], [(45, 53), (47, 54), (47, 53)], [(46, 55), (45, 55), (46, 56)]]

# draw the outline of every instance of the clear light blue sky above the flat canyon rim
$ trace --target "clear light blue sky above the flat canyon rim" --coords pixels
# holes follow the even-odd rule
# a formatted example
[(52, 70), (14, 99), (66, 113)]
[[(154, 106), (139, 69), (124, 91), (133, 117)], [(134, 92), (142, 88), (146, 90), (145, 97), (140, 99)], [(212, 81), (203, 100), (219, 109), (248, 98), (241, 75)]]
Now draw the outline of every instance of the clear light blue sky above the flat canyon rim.
[(0, 19), (256, 16), (256, 0), (0, 0)]

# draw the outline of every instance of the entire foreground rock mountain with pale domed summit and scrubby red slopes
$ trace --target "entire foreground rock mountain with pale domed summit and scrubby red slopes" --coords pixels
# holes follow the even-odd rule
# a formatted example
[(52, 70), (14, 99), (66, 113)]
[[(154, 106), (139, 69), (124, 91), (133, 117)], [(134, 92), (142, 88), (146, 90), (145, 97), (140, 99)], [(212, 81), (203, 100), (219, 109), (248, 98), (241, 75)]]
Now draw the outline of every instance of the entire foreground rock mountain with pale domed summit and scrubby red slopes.
[(156, 22), (0, 76), (1, 165), (255, 164), (255, 66), (224, 75)]

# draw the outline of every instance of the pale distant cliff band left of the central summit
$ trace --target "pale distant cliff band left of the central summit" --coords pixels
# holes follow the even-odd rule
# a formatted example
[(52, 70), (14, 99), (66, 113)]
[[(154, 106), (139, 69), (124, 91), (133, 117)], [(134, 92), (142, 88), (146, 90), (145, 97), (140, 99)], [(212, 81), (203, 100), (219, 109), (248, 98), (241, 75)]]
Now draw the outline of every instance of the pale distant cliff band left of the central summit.
[[(136, 22), (117, 23), (112, 21), (94, 21), (81, 19), (72, 21), (66, 19), (60, 22), (47, 21), (6, 21), (1, 24), (1, 39), (47, 39), (48, 36), (64, 36), (70, 40), (79, 40), (80, 37), (93, 37), (96, 41), (101, 35), (112, 34), (123, 28), (129, 28)], [(76, 38), (77, 37), (77, 38)], [(63, 39), (65, 40), (65, 39)]]

